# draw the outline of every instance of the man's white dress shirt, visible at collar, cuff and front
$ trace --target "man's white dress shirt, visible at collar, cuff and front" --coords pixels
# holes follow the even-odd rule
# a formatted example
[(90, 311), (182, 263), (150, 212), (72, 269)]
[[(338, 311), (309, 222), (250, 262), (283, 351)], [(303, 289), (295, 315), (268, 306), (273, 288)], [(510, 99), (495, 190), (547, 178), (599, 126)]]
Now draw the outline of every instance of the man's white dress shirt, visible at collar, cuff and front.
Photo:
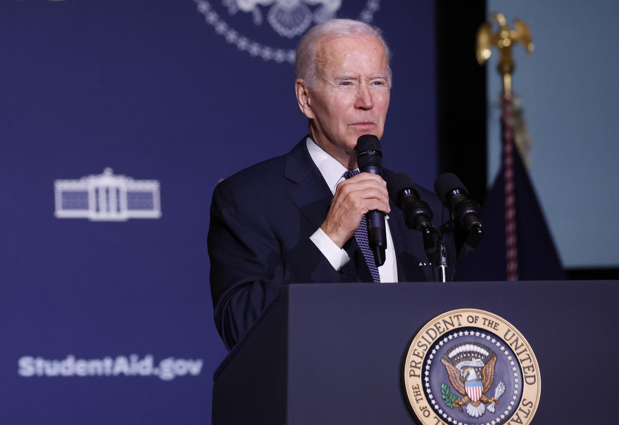
[[(335, 188), (339, 182), (345, 180), (344, 173), (347, 168), (342, 166), (335, 158), (323, 151), (311, 138), (306, 140), (309, 156), (316, 164), (316, 167), (320, 170), (322, 178), (329, 188), (331, 193), (335, 195)], [(397, 264), (396, 264), (396, 251), (393, 248), (393, 240), (391, 238), (391, 232), (389, 231), (389, 216), (385, 216), (385, 228), (387, 230), (387, 249), (385, 250), (385, 262), (382, 266), (378, 267), (378, 274), (381, 277), (381, 282), (397, 282)], [(350, 261), (350, 257), (345, 250), (335, 245), (335, 242), (327, 236), (319, 227), (313, 235), (309, 237), (311, 241), (318, 247), (322, 255), (324, 255), (331, 266), (339, 271), (345, 264)]]

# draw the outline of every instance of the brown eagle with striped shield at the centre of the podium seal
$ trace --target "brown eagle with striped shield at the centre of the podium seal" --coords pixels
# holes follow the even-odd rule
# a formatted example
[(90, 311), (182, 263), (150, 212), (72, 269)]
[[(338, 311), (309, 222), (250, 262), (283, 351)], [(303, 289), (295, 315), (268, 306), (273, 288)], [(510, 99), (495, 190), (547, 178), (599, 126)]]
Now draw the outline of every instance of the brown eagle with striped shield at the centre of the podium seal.
[[(470, 350), (471, 347), (475, 349)], [(453, 402), (452, 407), (457, 407), (462, 411), (462, 406), (465, 406), (469, 416), (474, 418), (482, 416), (485, 412), (486, 406), (483, 403), (495, 405), (498, 403), (498, 398), (488, 398), (486, 395), (495, 380), (496, 355), (483, 348), (480, 349), (477, 344), (469, 343), (452, 353), (445, 353), (441, 358), (449, 382), (462, 395), (460, 400)], [(485, 355), (480, 356), (482, 354), (480, 351), (483, 351)]]

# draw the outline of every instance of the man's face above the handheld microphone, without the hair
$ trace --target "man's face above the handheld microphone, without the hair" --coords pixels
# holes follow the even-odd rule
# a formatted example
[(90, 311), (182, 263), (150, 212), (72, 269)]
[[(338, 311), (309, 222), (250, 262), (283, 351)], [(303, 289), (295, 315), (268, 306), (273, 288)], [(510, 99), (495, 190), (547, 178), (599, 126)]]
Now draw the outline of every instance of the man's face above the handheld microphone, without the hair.
[(358, 137), (383, 137), (391, 93), (383, 44), (374, 36), (326, 36), (316, 49), (316, 64), (316, 90), (309, 91), (309, 112), (304, 111), (311, 136), (349, 166)]

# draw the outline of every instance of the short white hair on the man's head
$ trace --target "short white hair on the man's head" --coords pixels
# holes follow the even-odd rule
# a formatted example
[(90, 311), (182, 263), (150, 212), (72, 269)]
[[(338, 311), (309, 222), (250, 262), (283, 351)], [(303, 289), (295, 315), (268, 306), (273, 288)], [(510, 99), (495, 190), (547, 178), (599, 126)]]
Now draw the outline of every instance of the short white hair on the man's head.
[(331, 19), (311, 28), (299, 41), (297, 45), (297, 61), (295, 71), (297, 78), (302, 78), (311, 90), (316, 90), (316, 80), (318, 79), (318, 69), (316, 66), (316, 46), (323, 36), (346, 37), (352, 35), (375, 36), (383, 44), (385, 56), (387, 57), (388, 83), (391, 87), (391, 50), (383, 38), (380, 28), (374, 27), (369, 23), (353, 19)]

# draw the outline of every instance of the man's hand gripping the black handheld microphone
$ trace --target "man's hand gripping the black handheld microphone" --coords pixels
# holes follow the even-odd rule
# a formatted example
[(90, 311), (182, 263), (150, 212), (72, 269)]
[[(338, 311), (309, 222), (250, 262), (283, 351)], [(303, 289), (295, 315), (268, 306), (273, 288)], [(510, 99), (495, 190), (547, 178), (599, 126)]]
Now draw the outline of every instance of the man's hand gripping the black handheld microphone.
[(391, 211), (387, 183), (379, 175), (362, 172), (337, 185), (320, 228), (342, 248), (355, 234), (361, 218), (373, 209), (386, 214)]

